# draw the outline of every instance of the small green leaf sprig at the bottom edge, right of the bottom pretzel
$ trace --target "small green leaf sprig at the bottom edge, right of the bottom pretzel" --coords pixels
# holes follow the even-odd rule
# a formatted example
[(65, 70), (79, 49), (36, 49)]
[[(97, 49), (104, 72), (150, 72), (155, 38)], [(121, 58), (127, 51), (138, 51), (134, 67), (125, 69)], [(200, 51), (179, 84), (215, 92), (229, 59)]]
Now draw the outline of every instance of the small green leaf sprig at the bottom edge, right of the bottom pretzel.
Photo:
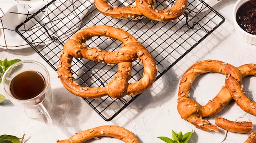
[(181, 131), (178, 134), (173, 130), (172, 132), (173, 132), (173, 139), (170, 139), (168, 137), (157, 137), (157, 138), (161, 139), (162, 141), (165, 141), (166, 143), (186, 143), (189, 141), (193, 130), (185, 134), (182, 134)]

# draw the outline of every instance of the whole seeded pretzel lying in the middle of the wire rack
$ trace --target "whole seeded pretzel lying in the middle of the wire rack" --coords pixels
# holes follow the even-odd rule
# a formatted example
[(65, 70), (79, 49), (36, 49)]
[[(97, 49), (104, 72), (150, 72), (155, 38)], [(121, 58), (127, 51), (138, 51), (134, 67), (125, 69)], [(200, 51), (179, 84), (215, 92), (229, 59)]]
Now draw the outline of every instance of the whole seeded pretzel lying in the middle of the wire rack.
[[(85, 41), (94, 36), (111, 37), (121, 41), (124, 45), (115, 52), (108, 52), (97, 47), (89, 48)], [(58, 77), (68, 91), (83, 98), (99, 98), (105, 95), (122, 98), (125, 95), (138, 95), (146, 91), (156, 79), (157, 65), (153, 56), (137, 39), (120, 28), (103, 25), (80, 30), (67, 40), (62, 52), (56, 71)], [(118, 64), (117, 74), (105, 87), (81, 87), (72, 76), (73, 57)], [(137, 82), (128, 83), (131, 77), (132, 62), (136, 59), (140, 60), (144, 66), (144, 73)]]

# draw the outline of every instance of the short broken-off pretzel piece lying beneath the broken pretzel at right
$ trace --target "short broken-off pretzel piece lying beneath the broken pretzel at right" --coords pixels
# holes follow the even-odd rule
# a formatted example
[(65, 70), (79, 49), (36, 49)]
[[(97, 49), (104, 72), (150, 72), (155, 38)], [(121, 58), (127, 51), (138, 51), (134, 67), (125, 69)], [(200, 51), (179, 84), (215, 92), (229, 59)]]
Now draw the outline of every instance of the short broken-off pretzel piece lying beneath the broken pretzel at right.
[(229, 121), (222, 117), (216, 117), (215, 118), (215, 124), (219, 126), (220, 128), (230, 131), (230, 132), (236, 132), (236, 133), (248, 133), (252, 130), (253, 124), (249, 121)]

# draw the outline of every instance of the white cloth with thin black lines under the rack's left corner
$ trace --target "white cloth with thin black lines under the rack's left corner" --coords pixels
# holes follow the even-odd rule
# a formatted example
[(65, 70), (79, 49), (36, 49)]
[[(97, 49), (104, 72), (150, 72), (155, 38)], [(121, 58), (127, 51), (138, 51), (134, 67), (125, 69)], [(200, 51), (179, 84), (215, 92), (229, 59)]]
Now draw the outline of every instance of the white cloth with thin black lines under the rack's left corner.
[[(52, 0), (1, 0), (0, 48), (21, 49), (30, 47), (28, 43), (20, 35), (18, 35), (16, 32), (16, 27), (51, 1)], [(56, 30), (57, 28), (62, 28), (64, 25), (65, 26), (61, 30), (69, 29), (72, 27), (72, 29), (74, 29), (75, 27), (78, 27), (74, 26), (74, 23), (79, 22), (84, 17), (84, 15), (88, 12), (86, 9), (88, 9), (88, 6), (92, 5), (92, 2), (93, 0), (56, 0), (54, 4), (51, 4), (47, 7), (47, 9), (45, 9), (45, 11), (43, 11), (44, 14), (40, 15), (39, 18), (43, 23), (53, 28), (52, 31)], [(70, 7), (67, 9), (66, 6)], [(56, 9), (56, 7), (58, 7), (58, 9)], [(79, 13), (80, 10), (83, 11), (83, 13)], [(68, 12), (68, 14), (66, 12)], [(70, 22), (70, 20), (72, 20), (72, 22)], [(25, 27), (24, 30), (27, 30), (27, 28)], [(45, 31), (38, 30), (37, 34), (40, 35), (39, 32), (43, 33)], [(34, 32), (28, 31), (25, 34), (33, 35)], [(60, 36), (58, 33), (55, 34)], [(33, 40), (35, 45), (36, 43), (40, 42), (40, 39), (37, 41)]]

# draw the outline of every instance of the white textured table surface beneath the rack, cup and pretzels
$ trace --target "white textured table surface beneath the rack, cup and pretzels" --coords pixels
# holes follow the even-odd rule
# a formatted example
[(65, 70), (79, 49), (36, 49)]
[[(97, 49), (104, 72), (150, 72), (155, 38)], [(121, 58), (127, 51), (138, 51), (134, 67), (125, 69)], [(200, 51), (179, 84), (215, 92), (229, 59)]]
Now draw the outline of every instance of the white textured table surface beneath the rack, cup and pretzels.
[[(183, 133), (194, 130), (190, 143), (245, 142), (249, 134), (231, 133), (220, 128), (219, 132), (204, 132), (195, 128), (188, 121), (180, 118), (176, 102), (180, 78), (196, 61), (214, 59), (236, 67), (246, 63), (256, 63), (256, 45), (245, 43), (235, 33), (231, 17), (235, 2), (236, 0), (222, 0), (213, 6), (225, 17), (225, 22), (111, 121), (104, 121), (86, 102), (69, 93), (57, 78), (54, 70), (32, 48), (0, 49), (1, 60), (4, 58), (29, 59), (47, 66), (51, 73), (54, 95), (52, 108), (49, 110), (53, 119), (52, 126), (46, 126), (43, 120), (37, 121), (26, 117), (9, 100), (0, 103), (0, 135), (10, 134), (22, 137), (25, 133), (25, 143), (54, 143), (57, 139), (68, 139), (83, 130), (102, 125), (117, 125), (134, 132), (141, 143), (163, 143), (157, 137), (171, 138), (171, 130)], [(204, 74), (198, 77), (191, 89), (193, 99), (200, 104), (205, 104), (224, 86), (224, 79), (225, 76), (220, 74)], [(244, 78), (243, 83), (247, 95), (252, 100), (256, 100), (254, 98), (256, 78)], [(0, 94), (4, 95), (2, 88)], [(256, 124), (256, 117), (242, 111), (234, 102), (229, 103), (216, 116), (233, 121), (249, 120)], [(208, 120), (214, 124), (214, 117)], [(110, 138), (92, 142), (121, 143), (117, 139)]]

